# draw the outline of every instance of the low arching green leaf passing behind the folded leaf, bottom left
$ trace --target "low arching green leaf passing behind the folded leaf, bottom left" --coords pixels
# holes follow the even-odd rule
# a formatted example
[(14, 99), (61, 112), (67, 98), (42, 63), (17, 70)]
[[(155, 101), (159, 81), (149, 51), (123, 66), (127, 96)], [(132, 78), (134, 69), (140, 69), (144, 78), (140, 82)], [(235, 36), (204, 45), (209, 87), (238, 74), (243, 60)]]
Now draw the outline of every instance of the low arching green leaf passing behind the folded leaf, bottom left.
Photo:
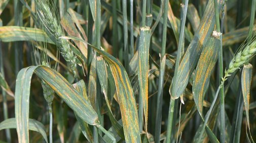
[[(0, 130), (7, 129), (7, 128), (17, 128), (17, 123), (15, 118), (9, 118), (0, 123)], [(41, 122), (36, 121), (34, 119), (28, 119), (28, 129), (40, 132), (44, 137), (45, 141), (48, 142), (47, 134), (45, 132), (45, 127)]]

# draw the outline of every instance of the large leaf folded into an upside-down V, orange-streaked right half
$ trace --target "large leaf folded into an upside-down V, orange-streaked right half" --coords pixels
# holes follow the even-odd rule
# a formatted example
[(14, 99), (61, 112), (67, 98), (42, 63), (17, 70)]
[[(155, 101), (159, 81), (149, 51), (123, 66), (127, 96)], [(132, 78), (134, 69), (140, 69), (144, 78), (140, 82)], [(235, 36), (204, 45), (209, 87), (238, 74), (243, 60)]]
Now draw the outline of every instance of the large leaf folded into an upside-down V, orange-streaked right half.
[(28, 115), (32, 74), (35, 71), (79, 116), (91, 125), (98, 125), (97, 114), (88, 101), (55, 70), (46, 66), (30, 66), (20, 70), (15, 88), (15, 117), (19, 142), (29, 142)]

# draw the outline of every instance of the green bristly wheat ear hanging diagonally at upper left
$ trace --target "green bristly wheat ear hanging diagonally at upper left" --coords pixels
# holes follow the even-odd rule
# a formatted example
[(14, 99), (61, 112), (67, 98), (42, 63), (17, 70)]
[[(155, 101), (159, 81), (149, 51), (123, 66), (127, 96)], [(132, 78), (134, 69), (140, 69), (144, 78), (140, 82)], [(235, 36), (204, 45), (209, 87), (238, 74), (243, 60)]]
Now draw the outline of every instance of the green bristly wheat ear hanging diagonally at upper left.
[(42, 29), (47, 33), (47, 35), (53, 40), (60, 49), (61, 55), (66, 60), (67, 64), (70, 66), (74, 76), (76, 75), (77, 67), (77, 57), (74, 55), (73, 51), (70, 49), (68, 41), (65, 39), (59, 39), (59, 37), (64, 36), (58, 19), (51, 11), (48, 0), (38, 0), (36, 1), (36, 18), (41, 21)]

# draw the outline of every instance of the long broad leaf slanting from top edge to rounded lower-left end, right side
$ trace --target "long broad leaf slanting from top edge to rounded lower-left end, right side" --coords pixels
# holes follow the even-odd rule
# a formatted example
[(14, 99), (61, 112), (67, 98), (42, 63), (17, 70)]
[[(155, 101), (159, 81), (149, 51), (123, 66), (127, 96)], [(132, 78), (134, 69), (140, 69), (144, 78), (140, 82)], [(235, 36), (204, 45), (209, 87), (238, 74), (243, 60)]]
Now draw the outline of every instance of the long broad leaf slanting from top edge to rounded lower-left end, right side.
[[(219, 0), (219, 8), (222, 7), (223, 0)], [(215, 25), (213, 0), (208, 1), (206, 10), (201, 19), (200, 25), (191, 41), (186, 53), (178, 67), (177, 80), (170, 86), (169, 93), (172, 99), (177, 99), (184, 92), (189, 83), (189, 79), (195, 69), (199, 56), (207, 43), (207, 39), (212, 33)], [(171, 88), (173, 88), (171, 90)]]

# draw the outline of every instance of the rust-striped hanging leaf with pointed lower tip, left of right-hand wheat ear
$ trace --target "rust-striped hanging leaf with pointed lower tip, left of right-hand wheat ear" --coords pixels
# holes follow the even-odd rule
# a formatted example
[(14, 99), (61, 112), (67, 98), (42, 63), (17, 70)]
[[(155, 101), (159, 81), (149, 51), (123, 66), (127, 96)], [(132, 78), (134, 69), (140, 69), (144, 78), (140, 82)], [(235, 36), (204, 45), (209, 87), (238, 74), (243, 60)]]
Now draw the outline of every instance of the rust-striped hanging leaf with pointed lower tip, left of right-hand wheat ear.
[(210, 76), (220, 53), (221, 40), (210, 36), (197, 63), (193, 82), (193, 97), (199, 114), (203, 117), (203, 101)]

